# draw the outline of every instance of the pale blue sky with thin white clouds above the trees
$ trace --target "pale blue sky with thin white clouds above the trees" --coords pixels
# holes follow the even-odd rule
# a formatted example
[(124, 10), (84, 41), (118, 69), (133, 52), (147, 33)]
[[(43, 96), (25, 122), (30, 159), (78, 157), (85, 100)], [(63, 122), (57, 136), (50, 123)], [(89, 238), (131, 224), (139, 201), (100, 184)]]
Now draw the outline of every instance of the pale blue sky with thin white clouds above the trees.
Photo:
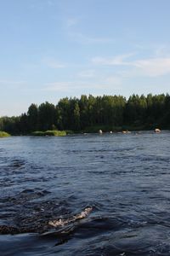
[(0, 0), (0, 116), (170, 93), (169, 0)]

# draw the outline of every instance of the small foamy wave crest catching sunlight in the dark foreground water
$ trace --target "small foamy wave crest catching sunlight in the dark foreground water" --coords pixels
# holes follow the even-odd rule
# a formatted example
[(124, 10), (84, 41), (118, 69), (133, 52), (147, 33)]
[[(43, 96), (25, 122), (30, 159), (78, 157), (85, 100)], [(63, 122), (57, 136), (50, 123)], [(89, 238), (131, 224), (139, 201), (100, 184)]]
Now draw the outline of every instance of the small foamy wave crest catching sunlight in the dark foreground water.
[(79, 219), (88, 217), (88, 215), (90, 214), (90, 212), (92, 212), (92, 210), (93, 210), (93, 207), (87, 207), (81, 213), (78, 213), (77, 215), (74, 215), (71, 218), (59, 218), (57, 220), (49, 221), (48, 224), (55, 228), (59, 226), (64, 226), (65, 224), (70, 224)]

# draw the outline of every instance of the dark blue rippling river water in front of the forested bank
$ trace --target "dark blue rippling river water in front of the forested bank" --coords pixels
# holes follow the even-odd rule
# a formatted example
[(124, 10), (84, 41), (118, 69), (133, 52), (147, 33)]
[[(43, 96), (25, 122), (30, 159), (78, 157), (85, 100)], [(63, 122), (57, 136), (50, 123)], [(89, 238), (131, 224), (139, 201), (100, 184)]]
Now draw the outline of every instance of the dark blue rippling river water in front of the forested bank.
[(170, 255), (170, 132), (1, 139), (0, 225), (0, 255)]

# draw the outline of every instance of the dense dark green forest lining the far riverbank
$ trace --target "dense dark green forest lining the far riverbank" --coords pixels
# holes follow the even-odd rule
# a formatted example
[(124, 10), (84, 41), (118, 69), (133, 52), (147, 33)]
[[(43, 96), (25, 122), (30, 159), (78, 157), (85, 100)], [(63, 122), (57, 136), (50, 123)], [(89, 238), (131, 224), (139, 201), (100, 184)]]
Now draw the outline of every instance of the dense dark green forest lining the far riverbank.
[(31, 131), (121, 131), (170, 128), (170, 96), (85, 96), (60, 99), (54, 106), (31, 104), (27, 113), (1, 117), (0, 130), (11, 134)]

